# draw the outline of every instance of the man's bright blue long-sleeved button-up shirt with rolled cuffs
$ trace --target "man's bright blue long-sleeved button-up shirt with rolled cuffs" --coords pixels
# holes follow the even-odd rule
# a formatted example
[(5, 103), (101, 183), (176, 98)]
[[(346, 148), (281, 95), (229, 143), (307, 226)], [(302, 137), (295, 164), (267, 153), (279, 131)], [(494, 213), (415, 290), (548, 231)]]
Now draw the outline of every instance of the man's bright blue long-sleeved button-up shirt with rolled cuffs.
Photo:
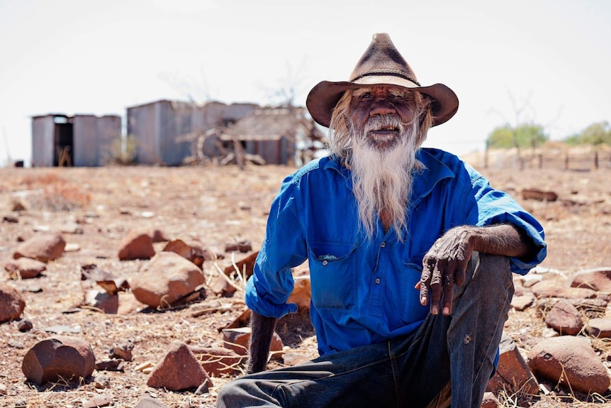
[(271, 204), (267, 231), (247, 282), (246, 303), (263, 316), (295, 312), (291, 268), (308, 260), (310, 317), (321, 355), (411, 333), (429, 307), (418, 290), (422, 258), (449, 228), (511, 223), (539, 248), (530, 260), (510, 258), (527, 273), (546, 255), (542, 226), (512, 197), (493, 189), (473, 167), (442, 150), (422, 148), (425, 170), (415, 174), (408, 228), (367, 239), (359, 228), (351, 174), (334, 156), (286, 177)]

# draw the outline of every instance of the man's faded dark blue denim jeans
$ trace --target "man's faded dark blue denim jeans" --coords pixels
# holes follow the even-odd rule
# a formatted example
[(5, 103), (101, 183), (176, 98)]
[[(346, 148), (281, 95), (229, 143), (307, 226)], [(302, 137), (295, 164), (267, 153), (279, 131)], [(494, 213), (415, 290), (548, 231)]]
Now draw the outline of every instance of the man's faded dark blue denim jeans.
[(225, 385), (217, 407), (479, 407), (494, 369), (513, 282), (509, 260), (473, 253), (451, 316), (410, 336)]

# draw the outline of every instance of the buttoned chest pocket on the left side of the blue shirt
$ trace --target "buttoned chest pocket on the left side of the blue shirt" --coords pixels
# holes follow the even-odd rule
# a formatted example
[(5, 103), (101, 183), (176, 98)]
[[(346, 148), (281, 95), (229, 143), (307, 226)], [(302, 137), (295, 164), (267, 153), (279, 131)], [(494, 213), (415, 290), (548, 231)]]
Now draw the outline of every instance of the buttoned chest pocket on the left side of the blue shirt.
[(351, 309), (356, 299), (356, 247), (343, 243), (311, 243), (312, 302), (316, 309)]

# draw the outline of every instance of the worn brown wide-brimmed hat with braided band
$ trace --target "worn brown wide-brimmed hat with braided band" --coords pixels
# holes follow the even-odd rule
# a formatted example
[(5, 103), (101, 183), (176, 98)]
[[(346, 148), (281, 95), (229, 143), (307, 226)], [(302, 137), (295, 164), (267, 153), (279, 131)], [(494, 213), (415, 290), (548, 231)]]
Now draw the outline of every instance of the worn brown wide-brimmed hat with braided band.
[(354, 67), (349, 81), (323, 81), (316, 84), (308, 94), (306, 106), (312, 118), (328, 128), (331, 113), (344, 92), (373, 85), (395, 85), (427, 94), (431, 99), (432, 126), (448, 121), (458, 110), (458, 98), (449, 87), (444, 84), (429, 87), (420, 85), (408, 62), (400, 55), (386, 33), (374, 34), (369, 48)]

